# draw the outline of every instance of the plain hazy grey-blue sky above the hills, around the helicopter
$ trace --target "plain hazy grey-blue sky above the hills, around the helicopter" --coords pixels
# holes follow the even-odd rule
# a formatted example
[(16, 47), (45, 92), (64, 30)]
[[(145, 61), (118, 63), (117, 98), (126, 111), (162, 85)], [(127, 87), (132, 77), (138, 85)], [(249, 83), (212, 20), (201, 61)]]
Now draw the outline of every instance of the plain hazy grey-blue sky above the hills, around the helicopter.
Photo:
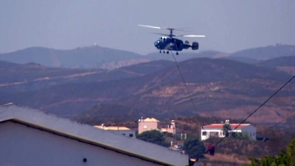
[(206, 35), (200, 50), (232, 53), (276, 43), (295, 44), (294, 0), (0, 0), (0, 53), (31, 46), (99, 46), (145, 55), (165, 30), (137, 24), (190, 28)]

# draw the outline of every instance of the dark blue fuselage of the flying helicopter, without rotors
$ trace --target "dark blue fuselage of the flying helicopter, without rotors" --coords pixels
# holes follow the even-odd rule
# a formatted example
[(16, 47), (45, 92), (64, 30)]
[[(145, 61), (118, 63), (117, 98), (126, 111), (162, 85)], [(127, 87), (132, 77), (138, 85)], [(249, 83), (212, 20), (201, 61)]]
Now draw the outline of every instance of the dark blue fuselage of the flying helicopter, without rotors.
[(156, 42), (154, 42), (154, 46), (159, 50), (175, 51), (181, 51), (191, 47), (190, 44), (186, 44), (181, 39), (176, 39), (173, 37), (160, 37)]

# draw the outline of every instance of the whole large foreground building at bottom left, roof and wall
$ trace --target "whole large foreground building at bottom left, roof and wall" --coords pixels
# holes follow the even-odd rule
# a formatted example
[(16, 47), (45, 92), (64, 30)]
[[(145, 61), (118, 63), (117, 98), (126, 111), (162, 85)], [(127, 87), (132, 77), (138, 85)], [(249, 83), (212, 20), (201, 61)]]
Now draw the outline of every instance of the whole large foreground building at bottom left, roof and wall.
[(1, 165), (188, 165), (188, 156), (26, 107), (0, 106)]

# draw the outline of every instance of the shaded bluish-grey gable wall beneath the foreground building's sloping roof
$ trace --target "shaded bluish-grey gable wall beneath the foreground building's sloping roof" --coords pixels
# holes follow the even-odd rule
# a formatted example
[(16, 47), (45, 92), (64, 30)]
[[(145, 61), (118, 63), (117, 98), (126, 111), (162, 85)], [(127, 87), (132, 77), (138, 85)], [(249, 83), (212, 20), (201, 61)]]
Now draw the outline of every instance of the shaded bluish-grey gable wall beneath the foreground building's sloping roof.
[(0, 147), (1, 165), (159, 165), (10, 121), (0, 123)]

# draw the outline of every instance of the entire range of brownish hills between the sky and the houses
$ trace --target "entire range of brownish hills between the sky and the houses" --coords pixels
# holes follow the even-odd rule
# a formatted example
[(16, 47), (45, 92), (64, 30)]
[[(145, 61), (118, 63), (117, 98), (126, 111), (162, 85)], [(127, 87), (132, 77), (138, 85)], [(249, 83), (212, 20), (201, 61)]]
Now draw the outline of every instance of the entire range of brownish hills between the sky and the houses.
[[(118, 55), (109, 56), (114, 61), (106, 58), (105, 62), (116, 64), (115, 61), (123, 60), (126, 64), (132, 64), (138, 57), (149, 57), (143, 58), (147, 62), (136, 61), (133, 65), (122, 67), (115, 65), (112, 70), (52, 67), (54, 63), (50, 59), (53, 55), (62, 56), (57, 56), (55, 52), (66, 52), (64, 55), (68, 59), (59, 62), (75, 64), (78, 60), (71, 57), (69, 50), (28, 48), (0, 55), (0, 59), (19, 62), (0, 61), (0, 104), (13, 102), (60, 116), (92, 121), (137, 119), (141, 116), (161, 119), (179, 116), (242, 119), (292, 77), (295, 54), (283, 55), (290, 53), (293, 47), (283, 46), (287, 49), (284, 50), (281, 46), (271, 46), (238, 52), (239, 56), (241, 53), (247, 55), (247, 52), (251, 55), (254, 52), (269, 53), (263, 49), (278, 48), (275, 51), (277, 57), (264, 61), (257, 59), (256, 63), (231, 59), (235, 53), (205, 51), (176, 56), (177, 64), (167, 54), (158, 53), (157, 57), (157, 54), (132, 53), (125, 56), (126, 51), (99, 46), (75, 49), (80, 51), (77, 55), (85, 53), (80, 57), (85, 64), (91, 56), (97, 57), (93, 57), (93, 61), (96, 61), (104, 57), (102, 55), (115, 52)], [(31, 54), (35, 49), (39, 52)], [(46, 51), (43, 53), (44, 49)], [(106, 49), (105, 54), (96, 55), (100, 49)], [(71, 51), (75, 54), (74, 50)], [(49, 67), (39, 64), (38, 59), (33, 61), (38, 55), (47, 58), (39, 57)], [(260, 56), (267, 57), (263, 54)], [(294, 90), (294, 82), (290, 82), (250, 120), (267, 123), (286, 118), (295, 109)]]

